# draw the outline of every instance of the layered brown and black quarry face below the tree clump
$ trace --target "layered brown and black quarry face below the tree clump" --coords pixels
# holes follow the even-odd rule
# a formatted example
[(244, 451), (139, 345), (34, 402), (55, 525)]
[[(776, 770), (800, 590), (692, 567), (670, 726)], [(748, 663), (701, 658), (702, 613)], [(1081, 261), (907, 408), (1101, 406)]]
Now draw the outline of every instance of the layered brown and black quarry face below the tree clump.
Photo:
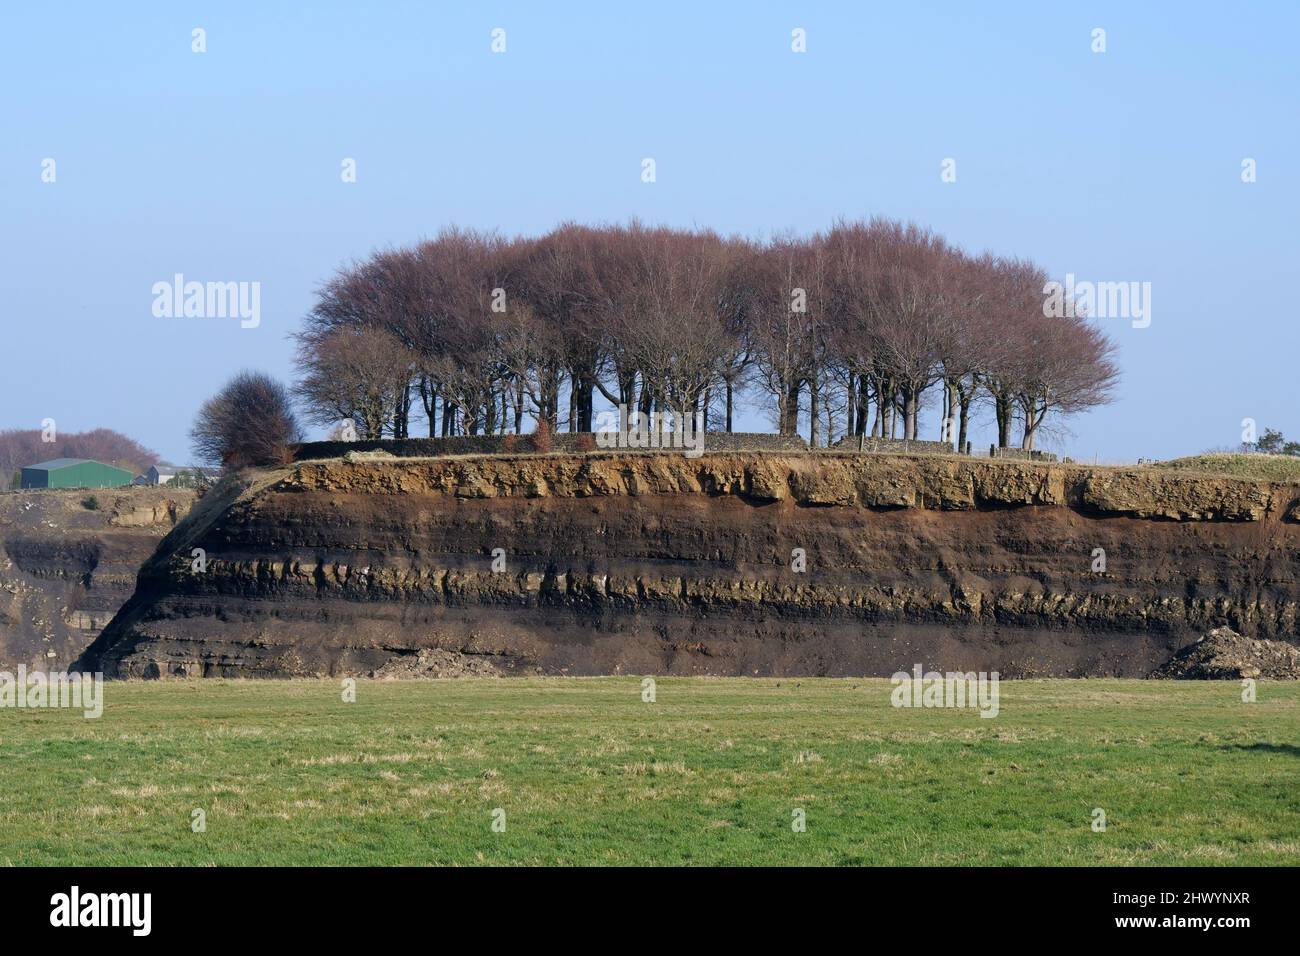
[(1144, 676), (1219, 624), (1296, 640), (1297, 501), (957, 457), (304, 462), (209, 493), (82, 666), (346, 675), (437, 648), (503, 672)]

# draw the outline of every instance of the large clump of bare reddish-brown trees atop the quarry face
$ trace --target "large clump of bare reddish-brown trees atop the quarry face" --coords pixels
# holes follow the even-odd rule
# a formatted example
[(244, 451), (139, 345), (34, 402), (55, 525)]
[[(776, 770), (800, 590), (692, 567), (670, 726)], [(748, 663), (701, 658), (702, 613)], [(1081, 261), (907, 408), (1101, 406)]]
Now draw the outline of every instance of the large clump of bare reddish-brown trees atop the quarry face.
[(888, 220), (770, 242), (566, 224), (540, 238), (460, 229), (326, 282), (298, 333), (295, 394), (359, 437), (592, 431), (611, 406), (702, 414), (731, 431), (759, 395), (783, 434), (932, 437), (966, 447), (987, 405), (998, 444), (1109, 401), (1114, 346), (1044, 316), (1032, 263), (972, 256)]

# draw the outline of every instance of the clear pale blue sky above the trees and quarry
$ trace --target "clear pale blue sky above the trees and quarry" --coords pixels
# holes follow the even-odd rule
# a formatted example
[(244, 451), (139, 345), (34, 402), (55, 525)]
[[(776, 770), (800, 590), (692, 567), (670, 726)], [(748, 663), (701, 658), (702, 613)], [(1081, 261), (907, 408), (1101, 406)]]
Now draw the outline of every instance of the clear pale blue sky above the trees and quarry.
[[(0, 428), (187, 460), (230, 373), (291, 376), (321, 280), (447, 224), (880, 213), (1152, 284), (1149, 328), (1108, 326), (1119, 399), (1050, 446), (1174, 457), (1247, 416), (1300, 437), (1297, 51), (1294, 0), (5, 3)], [(176, 273), (260, 282), (260, 325), (156, 317)]]

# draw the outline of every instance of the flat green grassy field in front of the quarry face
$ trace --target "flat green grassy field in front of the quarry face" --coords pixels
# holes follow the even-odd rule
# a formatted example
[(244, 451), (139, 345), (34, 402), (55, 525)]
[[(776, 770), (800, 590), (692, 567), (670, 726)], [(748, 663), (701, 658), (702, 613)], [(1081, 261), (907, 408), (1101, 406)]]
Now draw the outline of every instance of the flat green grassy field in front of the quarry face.
[(110, 683), (100, 719), (0, 710), (0, 864), (1300, 864), (1300, 685), (889, 689)]

